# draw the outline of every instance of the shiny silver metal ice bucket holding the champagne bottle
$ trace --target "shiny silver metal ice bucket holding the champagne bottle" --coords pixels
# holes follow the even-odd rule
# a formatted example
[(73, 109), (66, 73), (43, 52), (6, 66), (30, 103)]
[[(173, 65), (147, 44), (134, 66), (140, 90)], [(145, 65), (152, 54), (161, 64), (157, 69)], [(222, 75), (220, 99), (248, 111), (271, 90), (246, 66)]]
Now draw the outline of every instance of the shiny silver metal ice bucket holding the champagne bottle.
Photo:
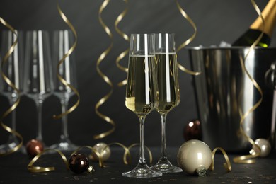
[[(242, 152), (251, 149), (241, 134), (240, 121), (260, 100), (258, 89), (241, 67), (248, 47), (188, 48), (193, 71), (197, 113), (202, 125), (203, 142), (212, 149), (221, 146), (226, 151)], [(276, 123), (276, 48), (255, 48), (245, 62), (246, 69), (263, 92), (262, 103), (249, 113), (243, 131), (255, 140), (268, 139), (275, 145)]]

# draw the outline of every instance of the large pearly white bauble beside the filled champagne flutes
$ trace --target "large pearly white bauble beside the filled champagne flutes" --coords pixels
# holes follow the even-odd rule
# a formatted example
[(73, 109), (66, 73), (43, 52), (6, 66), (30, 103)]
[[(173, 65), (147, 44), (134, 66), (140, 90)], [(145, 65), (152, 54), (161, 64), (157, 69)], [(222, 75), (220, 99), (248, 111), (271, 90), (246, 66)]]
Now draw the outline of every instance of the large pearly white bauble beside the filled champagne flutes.
[(180, 146), (177, 160), (186, 173), (205, 176), (212, 163), (212, 151), (205, 142), (192, 139)]

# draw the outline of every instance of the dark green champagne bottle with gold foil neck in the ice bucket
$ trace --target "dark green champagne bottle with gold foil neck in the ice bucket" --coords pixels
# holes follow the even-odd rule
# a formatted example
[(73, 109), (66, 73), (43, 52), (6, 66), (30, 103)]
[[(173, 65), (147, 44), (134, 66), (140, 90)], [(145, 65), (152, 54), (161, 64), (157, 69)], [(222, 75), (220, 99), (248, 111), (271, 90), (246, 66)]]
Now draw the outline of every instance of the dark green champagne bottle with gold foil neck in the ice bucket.
[[(265, 30), (263, 37), (258, 42), (259, 47), (268, 47), (272, 38), (273, 29), (276, 23), (276, 0), (268, 1), (268, 4), (262, 11), (262, 16), (265, 21)], [(238, 38), (232, 46), (251, 46), (263, 31), (263, 21), (258, 18), (250, 25), (250, 28)]]

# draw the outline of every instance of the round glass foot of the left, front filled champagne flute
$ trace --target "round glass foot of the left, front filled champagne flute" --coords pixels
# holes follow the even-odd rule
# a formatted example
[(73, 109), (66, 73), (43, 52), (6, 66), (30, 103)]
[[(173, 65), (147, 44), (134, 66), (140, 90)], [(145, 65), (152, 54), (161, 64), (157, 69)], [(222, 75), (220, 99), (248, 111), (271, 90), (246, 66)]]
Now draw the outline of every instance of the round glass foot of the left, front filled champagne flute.
[(162, 173), (152, 170), (146, 163), (139, 163), (132, 171), (122, 173), (122, 176), (130, 178), (153, 178), (162, 176)]

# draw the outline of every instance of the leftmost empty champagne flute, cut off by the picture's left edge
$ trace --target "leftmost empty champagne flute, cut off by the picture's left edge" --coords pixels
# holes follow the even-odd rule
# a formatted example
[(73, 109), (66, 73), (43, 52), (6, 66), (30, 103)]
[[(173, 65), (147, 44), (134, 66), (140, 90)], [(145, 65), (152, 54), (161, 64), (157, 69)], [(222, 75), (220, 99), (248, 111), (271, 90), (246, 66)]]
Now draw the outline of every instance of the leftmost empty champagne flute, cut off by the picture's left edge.
[[(23, 32), (16, 31), (17, 35), (14, 35), (11, 30), (3, 30), (2, 42), (1, 42), (1, 58), (4, 59), (5, 54), (13, 45), (16, 38), (18, 43), (14, 47), (13, 52), (8, 57), (1, 71), (8, 77), (8, 79), (16, 86), (19, 91), (23, 91)], [(3, 62), (3, 60), (2, 60)], [(16, 103), (19, 98), (18, 93), (9, 86), (3, 77), (1, 79), (1, 93), (8, 98), (10, 105)], [(16, 130), (16, 108), (11, 111), (11, 128)], [(18, 139), (14, 134), (8, 137), (8, 142), (0, 146), (0, 152), (7, 152), (18, 145)]]

